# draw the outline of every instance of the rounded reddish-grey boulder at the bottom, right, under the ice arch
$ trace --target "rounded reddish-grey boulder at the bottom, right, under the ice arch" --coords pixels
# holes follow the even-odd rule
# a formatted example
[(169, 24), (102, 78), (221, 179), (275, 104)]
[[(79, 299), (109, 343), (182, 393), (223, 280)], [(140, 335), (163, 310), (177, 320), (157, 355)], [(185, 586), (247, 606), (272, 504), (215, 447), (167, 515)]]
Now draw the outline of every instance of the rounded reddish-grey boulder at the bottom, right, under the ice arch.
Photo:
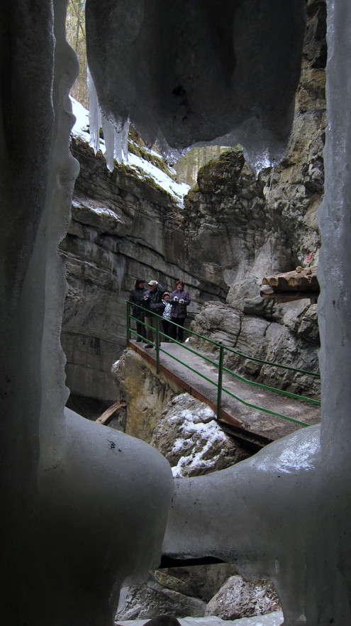
[(230, 576), (206, 606), (205, 615), (218, 615), (223, 620), (265, 615), (280, 609), (272, 583), (244, 581), (241, 576)]

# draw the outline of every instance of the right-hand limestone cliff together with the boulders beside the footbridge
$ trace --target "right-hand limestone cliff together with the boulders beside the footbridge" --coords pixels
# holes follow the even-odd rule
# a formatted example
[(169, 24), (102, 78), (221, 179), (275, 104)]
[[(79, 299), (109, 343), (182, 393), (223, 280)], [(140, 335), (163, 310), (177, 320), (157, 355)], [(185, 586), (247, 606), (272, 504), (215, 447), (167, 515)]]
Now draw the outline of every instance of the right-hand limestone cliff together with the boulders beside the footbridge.
[[(318, 262), (326, 123), (325, 2), (309, 0), (306, 10), (301, 80), (284, 160), (263, 168), (258, 176), (240, 147), (207, 163), (199, 171), (197, 187), (186, 196), (184, 221), (193, 257), (218, 263), (228, 285), (226, 305), (206, 303), (193, 329), (252, 356), (315, 371), (316, 305), (309, 300), (277, 304), (259, 296), (265, 274), (304, 265), (309, 253), (313, 263)], [(318, 393), (311, 378), (273, 373), (238, 358), (228, 359), (228, 365), (262, 382), (280, 380), (284, 388)]]

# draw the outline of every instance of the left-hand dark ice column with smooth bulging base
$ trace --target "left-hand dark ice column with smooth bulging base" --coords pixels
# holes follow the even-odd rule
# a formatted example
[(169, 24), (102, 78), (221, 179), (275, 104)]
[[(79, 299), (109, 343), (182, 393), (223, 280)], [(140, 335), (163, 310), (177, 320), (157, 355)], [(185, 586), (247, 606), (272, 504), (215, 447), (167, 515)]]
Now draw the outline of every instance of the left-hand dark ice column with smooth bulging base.
[(11, 626), (112, 625), (121, 583), (157, 560), (172, 495), (157, 451), (64, 412), (57, 250), (79, 170), (65, 9), (0, 6), (0, 622)]

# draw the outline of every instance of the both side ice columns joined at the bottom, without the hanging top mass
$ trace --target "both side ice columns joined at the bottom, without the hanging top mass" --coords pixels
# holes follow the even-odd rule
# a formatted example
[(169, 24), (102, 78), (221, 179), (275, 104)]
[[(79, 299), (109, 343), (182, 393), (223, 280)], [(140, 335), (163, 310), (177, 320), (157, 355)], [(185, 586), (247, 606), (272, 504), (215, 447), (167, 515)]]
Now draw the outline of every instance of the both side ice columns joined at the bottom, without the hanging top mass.
[[(140, 446), (128, 441), (126, 454), (131, 454), (132, 462), (126, 456), (122, 463), (126, 500), (121, 500), (106, 434), (95, 424), (82, 424), (77, 416), (64, 417), (67, 393), (59, 344), (64, 281), (57, 246), (77, 174), (67, 150), (72, 123), (67, 92), (76, 60), (65, 44), (65, 3), (21, 0), (3, 4), (0, 11), (1, 280), (7, 305), (1, 312), (5, 355), (1, 472), (7, 485), (2, 500), (6, 514), (1, 519), (6, 573), (1, 621), (17, 626), (25, 615), (30, 626), (96, 626), (112, 622), (111, 598), (126, 575), (126, 563), (130, 573), (140, 571), (139, 557), (150, 547), (148, 531), (155, 531), (160, 510), (165, 520), (169, 468), (155, 451), (143, 445), (140, 454)], [(240, 561), (250, 576), (257, 572), (271, 576), (279, 586), (289, 626), (299, 622), (342, 626), (351, 621), (350, 32), (348, 0), (328, 0), (330, 126), (320, 216), (321, 438), (311, 427), (234, 468), (179, 479), (179, 509), (174, 500), (167, 533), (171, 552), (184, 549), (189, 554), (211, 547)], [(245, 31), (243, 37), (250, 39)], [(34, 124), (38, 117), (40, 124)], [(108, 437), (116, 444), (118, 458), (118, 439)], [(123, 512), (130, 509), (128, 471), (140, 461), (135, 476), (140, 491), (135, 496), (141, 501), (133, 499), (133, 510), (140, 515), (134, 519), (137, 528), (145, 519), (144, 488), (151, 506), (147, 532), (139, 543), (125, 520), (115, 534), (111, 529), (116, 519), (121, 522), (121, 503)], [(111, 472), (108, 481), (106, 471)], [(162, 476), (161, 489), (158, 485), (152, 489), (153, 476)], [(230, 513), (230, 526), (224, 528), (218, 495)], [(189, 507), (194, 498), (196, 512)], [(102, 514), (96, 504), (102, 505)], [(101, 520), (103, 532), (96, 533)], [(185, 521), (191, 522), (187, 529)], [(162, 524), (157, 535), (155, 547)], [(123, 561), (119, 565), (118, 558)], [(143, 566), (147, 565), (145, 561)]]

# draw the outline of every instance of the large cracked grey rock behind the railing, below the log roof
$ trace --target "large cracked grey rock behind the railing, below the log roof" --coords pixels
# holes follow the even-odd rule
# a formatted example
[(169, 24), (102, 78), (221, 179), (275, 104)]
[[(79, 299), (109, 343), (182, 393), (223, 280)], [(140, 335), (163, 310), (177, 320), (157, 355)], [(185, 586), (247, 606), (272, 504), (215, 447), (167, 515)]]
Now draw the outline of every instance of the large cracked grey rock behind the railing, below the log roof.
[[(244, 315), (221, 302), (207, 302), (196, 315), (191, 329), (201, 335), (235, 348), (242, 355), (260, 358), (313, 373), (318, 372), (319, 334), (317, 305), (306, 300), (285, 305), (279, 321), (257, 315)], [(203, 351), (218, 351), (208, 342), (193, 336), (191, 345)], [(225, 366), (261, 383), (279, 386), (296, 393), (320, 395), (319, 379), (251, 361), (245, 356), (225, 351)]]

